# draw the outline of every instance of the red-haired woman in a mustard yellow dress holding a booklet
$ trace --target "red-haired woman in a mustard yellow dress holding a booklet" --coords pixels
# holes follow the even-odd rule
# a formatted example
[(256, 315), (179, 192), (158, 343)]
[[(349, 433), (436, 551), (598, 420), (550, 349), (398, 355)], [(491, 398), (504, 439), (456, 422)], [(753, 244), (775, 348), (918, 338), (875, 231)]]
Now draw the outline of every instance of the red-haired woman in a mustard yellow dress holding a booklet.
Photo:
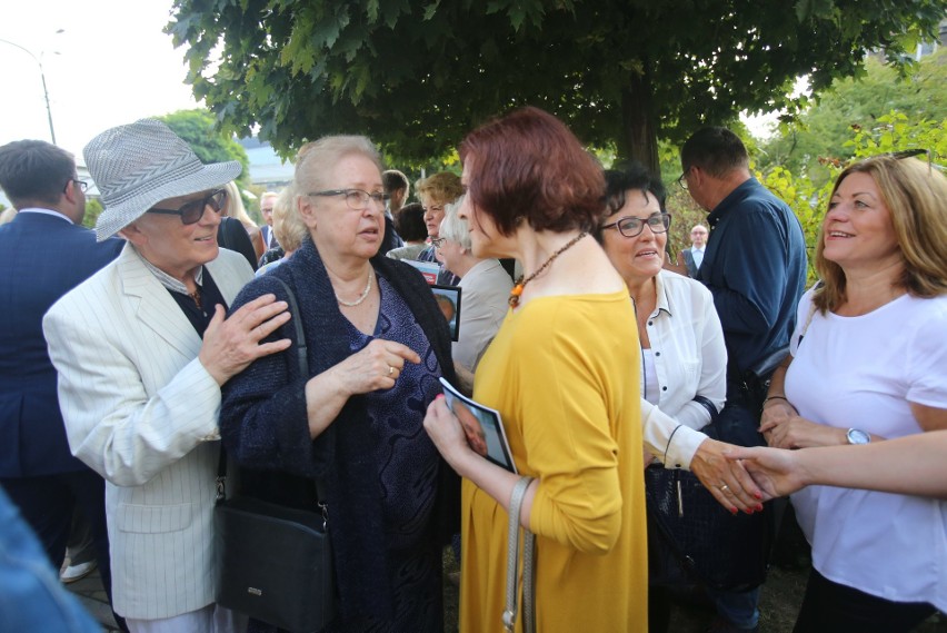
[[(535, 108), (475, 130), (460, 157), (474, 255), (515, 257), (525, 273), (474, 398), (500, 412), (517, 471), (534, 477), (519, 521), (537, 535), (537, 631), (647, 631), (638, 333), (589, 235), (601, 169)], [(442, 399), (425, 425), (463, 477), (460, 630), (495, 632), (519, 477), (470, 448)]]

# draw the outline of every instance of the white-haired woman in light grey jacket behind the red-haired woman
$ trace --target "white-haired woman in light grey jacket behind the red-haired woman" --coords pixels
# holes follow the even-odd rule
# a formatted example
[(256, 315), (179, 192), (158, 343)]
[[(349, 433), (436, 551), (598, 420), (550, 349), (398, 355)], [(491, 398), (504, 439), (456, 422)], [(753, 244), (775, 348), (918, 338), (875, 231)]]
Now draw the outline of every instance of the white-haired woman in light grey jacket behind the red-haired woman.
[(459, 340), (453, 344), (453, 362), (475, 372), (480, 356), (494, 339), (509, 308), (512, 279), (499, 259), (480, 259), (470, 250), (467, 220), (457, 217), (463, 196), (445, 205), (439, 237), (432, 243), (443, 267), (458, 277), (460, 294)]

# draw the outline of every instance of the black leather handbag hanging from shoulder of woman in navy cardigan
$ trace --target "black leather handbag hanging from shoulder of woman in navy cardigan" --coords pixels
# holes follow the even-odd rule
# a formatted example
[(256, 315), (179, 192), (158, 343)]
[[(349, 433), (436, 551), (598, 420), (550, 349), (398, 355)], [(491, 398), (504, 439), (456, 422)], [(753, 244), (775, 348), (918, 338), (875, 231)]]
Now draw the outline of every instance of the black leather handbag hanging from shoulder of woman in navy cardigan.
[[(276, 278), (276, 277), (275, 277)], [(309, 375), (306, 338), (292, 290), (299, 369)], [(291, 633), (323, 629), (336, 614), (336, 585), (328, 508), (316, 482), (312, 511), (251, 497), (226, 498), (227, 455), (221, 449), (213, 511), (217, 602)], [(317, 512), (318, 511), (318, 512)]]

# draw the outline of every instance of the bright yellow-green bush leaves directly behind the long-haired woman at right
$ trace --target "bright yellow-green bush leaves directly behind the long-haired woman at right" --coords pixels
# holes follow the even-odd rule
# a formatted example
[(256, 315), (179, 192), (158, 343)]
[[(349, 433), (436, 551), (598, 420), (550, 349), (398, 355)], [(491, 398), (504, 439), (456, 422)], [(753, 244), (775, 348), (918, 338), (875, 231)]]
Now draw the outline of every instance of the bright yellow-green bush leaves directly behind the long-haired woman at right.
[[(921, 160), (931, 161), (931, 169), (938, 169), (938, 161), (947, 157), (947, 118), (940, 121), (910, 121), (903, 112), (891, 111), (877, 117), (870, 127), (849, 128), (848, 138), (841, 142), (846, 154), (853, 160), (908, 149), (924, 148), (929, 156), (921, 155)], [(828, 178), (815, 181), (808, 176), (796, 175), (782, 166), (770, 166), (765, 172), (756, 176), (774, 194), (786, 201), (799, 218), (806, 234), (806, 247), (809, 253), (809, 281), (815, 281), (813, 255), (823, 217), (828, 208), (829, 197), (839, 172), (850, 160), (828, 161), (825, 166)], [(943, 169), (943, 167), (939, 167)]]

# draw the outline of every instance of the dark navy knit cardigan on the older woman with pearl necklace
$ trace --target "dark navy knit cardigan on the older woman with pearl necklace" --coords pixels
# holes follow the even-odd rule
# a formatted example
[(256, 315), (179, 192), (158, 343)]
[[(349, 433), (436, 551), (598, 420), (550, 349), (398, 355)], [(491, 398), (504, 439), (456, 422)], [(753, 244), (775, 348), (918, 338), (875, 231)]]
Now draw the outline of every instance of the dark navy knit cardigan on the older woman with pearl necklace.
[[(371, 265), (408, 305), (426, 333), (443, 376), (453, 382), (450, 332), (421, 275), (383, 255), (373, 257)], [(285, 300), (286, 291), (273, 276), (286, 281), (296, 295), (309, 346), (310, 376), (299, 375), (296, 334), (292, 323), (288, 323), (270, 339), (291, 338), (292, 347), (256, 360), (223, 387), (220, 433), (225, 448), (241, 466), (241, 492), (250, 496), (311, 510), (312, 481), (323, 479), (342, 615), (388, 619), (393, 601), (378, 467), (371, 462), (371, 451), (366, 449), (372, 441), (366, 398), (349, 398), (322, 434), (315, 441), (309, 437), (306, 382), (351, 354), (345, 317), (311, 240), (275, 270), (248, 284), (231, 311), (268, 293)], [(460, 481), (442, 459), (438, 467), (430, 537), (446, 543), (459, 531)]]

